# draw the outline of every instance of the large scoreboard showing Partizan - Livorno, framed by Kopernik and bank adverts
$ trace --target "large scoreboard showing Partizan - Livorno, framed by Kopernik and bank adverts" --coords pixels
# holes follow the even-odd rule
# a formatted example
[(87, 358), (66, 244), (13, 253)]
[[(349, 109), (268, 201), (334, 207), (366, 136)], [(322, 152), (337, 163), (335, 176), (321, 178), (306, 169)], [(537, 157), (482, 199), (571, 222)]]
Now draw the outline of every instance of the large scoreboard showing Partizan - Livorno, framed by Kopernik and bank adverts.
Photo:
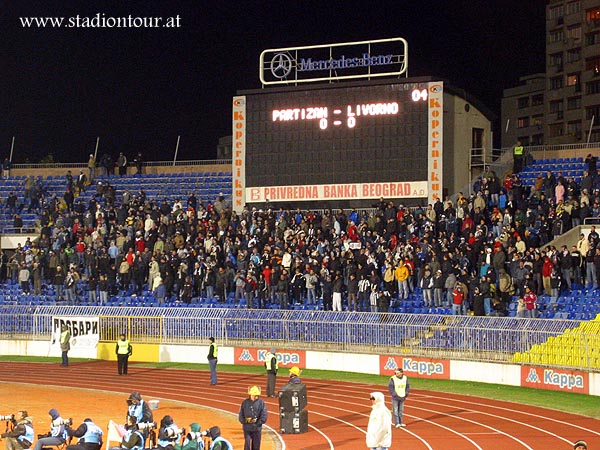
[(234, 200), (431, 197), (441, 191), (442, 91), (442, 82), (346, 83), (235, 97)]

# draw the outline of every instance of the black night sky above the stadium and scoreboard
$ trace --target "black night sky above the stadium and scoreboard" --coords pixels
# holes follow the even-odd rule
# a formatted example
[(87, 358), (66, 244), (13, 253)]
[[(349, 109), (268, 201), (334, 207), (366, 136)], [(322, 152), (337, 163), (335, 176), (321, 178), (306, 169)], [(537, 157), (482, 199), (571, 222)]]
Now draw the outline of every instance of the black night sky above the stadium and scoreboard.
[[(93, 6), (92, 6), (93, 4)], [(544, 71), (544, 0), (5, 1), (0, 158), (213, 159), (231, 97), (260, 88), (267, 48), (403, 37), (409, 75), (449, 80), (500, 116), (502, 90)], [(179, 17), (179, 28), (24, 28), (20, 17)]]

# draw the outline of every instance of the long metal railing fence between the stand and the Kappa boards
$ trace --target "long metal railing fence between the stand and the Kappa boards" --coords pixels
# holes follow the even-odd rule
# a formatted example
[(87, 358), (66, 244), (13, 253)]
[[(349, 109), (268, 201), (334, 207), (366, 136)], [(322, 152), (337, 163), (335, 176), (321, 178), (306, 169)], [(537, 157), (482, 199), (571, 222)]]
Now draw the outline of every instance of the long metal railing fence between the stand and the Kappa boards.
[[(98, 317), (101, 341), (401, 354), (600, 371), (600, 318), (508, 317), (217, 308), (0, 306), (0, 339), (51, 338), (53, 316)], [(558, 345), (560, 342), (568, 345)]]

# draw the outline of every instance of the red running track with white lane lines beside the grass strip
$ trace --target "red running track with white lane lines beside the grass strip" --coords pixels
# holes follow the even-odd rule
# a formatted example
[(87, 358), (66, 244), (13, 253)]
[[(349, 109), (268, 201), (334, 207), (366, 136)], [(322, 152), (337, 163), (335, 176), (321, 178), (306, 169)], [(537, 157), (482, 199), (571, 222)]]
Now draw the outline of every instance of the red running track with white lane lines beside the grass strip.
[[(219, 384), (209, 385), (207, 371), (154, 369), (131, 365), (119, 377), (116, 363), (73, 363), (68, 368), (47, 363), (3, 363), (0, 379), (41, 385), (93, 388), (208, 406), (237, 414), (248, 386), (263, 385), (265, 377), (219, 372)], [(166, 383), (168, 380), (168, 383)], [(279, 383), (284, 380), (279, 378)], [(307, 385), (309, 432), (279, 436), (286, 450), (355, 450), (365, 448), (369, 393), (386, 393), (386, 386), (311, 380)], [(278, 404), (265, 398), (267, 422), (278, 431)], [(549, 405), (551, 406), (551, 405)], [(599, 400), (600, 406), (600, 400)], [(392, 449), (410, 450), (560, 450), (585, 439), (600, 450), (600, 420), (511, 402), (414, 389), (406, 402), (406, 428), (393, 430)]]

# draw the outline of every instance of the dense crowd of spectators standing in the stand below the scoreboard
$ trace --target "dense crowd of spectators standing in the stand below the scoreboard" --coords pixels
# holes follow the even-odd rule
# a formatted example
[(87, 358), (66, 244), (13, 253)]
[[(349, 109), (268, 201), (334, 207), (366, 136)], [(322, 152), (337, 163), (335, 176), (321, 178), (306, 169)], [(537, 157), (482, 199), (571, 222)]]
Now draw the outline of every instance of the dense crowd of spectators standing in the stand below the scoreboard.
[(600, 279), (594, 229), (571, 248), (547, 245), (600, 216), (600, 175), (540, 180), (529, 188), (518, 174), (487, 169), (472, 195), (423, 207), (381, 198), (362, 211), (267, 205), (240, 214), (223, 195), (167, 203), (98, 183), (87, 204), (63, 196), (35, 205), (40, 237), (0, 254), (0, 278), (36, 295), (53, 285), (69, 303), (150, 291), (158, 303), (387, 312), (418, 298), (454, 314), (505, 315), (513, 296), (558, 297)]

